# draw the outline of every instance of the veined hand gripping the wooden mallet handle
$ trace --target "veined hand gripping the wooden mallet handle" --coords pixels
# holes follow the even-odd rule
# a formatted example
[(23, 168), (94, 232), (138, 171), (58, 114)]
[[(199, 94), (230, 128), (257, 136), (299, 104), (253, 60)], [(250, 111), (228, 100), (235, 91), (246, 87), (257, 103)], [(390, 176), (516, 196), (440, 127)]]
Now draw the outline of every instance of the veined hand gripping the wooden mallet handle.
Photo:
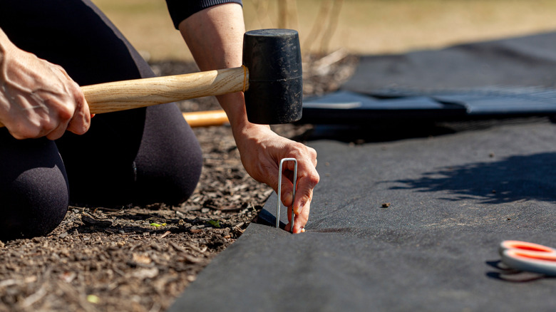
[(7, 41), (0, 29), (0, 122), (17, 139), (85, 133), (87, 101), (61, 68)]

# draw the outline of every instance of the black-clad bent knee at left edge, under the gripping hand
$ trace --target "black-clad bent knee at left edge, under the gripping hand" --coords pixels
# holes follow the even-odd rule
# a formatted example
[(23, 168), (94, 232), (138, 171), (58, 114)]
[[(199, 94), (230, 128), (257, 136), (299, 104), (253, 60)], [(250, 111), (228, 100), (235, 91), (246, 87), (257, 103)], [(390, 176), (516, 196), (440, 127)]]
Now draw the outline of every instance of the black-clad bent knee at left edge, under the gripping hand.
[(48, 234), (68, 209), (68, 183), (51, 140), (15, 140), (0, 130), (0, 239)]

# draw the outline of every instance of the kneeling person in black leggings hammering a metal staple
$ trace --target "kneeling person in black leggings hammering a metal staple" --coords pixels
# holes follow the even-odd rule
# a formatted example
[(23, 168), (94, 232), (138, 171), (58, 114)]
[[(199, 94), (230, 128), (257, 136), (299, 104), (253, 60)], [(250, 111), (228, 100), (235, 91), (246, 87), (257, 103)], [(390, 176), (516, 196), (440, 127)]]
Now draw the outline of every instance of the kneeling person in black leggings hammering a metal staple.
[[(240, 0), (168, 0), (202, 71), (241, 66)], [(180, 204), (200, 177), (195, 135), (173, 103), (96, 115), (79, 85), (153, 77), (148, 64), (90, 0), (0, 3), (0, 239), (48, 234), (68, 205)], [(278, 188), (278, 164), (298, 161), (297, 194), (282, 202), (302, 232), (319, 182), (316, 152), (247, 121), (243, 93), (217, 100), (245, 170)], [(291, 163), (291, 162), (289, 162)], [(289, 170), (293, 170), (293, 164)]]

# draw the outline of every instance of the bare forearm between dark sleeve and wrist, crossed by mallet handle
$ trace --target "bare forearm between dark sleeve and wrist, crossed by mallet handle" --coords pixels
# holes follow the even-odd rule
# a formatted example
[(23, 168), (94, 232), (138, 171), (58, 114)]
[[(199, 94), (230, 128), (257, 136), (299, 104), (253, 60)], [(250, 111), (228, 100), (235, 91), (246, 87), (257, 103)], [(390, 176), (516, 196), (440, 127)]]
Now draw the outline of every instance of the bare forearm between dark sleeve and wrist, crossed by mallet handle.
[[(245, 28), (239, 4), (221, 4), (197, 12), (182, 21), (180, 32), (201, 71), (242, 66)], [(236, 138), (249, 128), (262, 127), (247, 121), (243, 93), (220, 95), (217, 99)]]

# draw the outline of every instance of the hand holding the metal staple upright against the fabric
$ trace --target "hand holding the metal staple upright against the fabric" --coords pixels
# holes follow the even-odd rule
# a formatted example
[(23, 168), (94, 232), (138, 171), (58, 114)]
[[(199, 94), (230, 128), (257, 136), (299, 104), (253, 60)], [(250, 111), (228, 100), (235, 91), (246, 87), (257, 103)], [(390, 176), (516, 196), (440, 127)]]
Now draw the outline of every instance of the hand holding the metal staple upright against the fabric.
[(319, 183), (316, 172), (316, 151), (299, 142), (280, 137), (263, 125), (252, 125), (235, 135), (243, 166), (255, 180), (268, 184), (277, 192), (278, 168), (282, 158), (297, 160), (297, 187), (295, 199), (293, 192), (294, 162), (284, 162), (282, 177), (282, 204), (288, 207), (286, 231), (292, 227), (292, 208), (294, 209), (294, 233), (304, 232), (309, 220), (313, 189)]

